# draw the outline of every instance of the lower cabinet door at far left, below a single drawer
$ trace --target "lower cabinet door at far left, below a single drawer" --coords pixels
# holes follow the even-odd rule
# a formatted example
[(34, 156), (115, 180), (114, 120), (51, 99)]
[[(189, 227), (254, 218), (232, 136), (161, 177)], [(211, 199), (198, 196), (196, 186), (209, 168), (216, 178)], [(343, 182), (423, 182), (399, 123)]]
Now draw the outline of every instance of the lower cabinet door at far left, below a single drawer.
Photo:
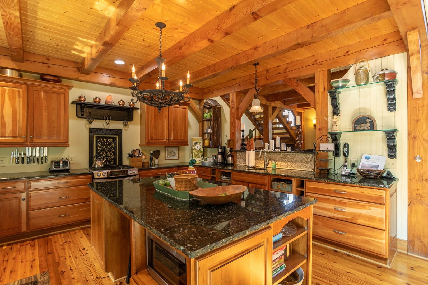
[(27, 230), (26, 193), (0, 195), (0, 217), (0, 236), (25, 232)]

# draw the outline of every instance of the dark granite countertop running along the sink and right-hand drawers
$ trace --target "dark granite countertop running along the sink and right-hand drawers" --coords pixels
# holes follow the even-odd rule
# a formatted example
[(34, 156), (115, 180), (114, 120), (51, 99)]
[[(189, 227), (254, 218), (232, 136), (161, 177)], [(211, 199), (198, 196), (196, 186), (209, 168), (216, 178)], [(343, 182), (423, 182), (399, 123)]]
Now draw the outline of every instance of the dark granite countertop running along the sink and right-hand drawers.
[(399, 181), (398, 179), (394, 180), (394, 179), (364, 178), (363, 176), (360, 176), (360, 175), (355, 175), (355, 176), (338, 175), (337, 177), (335, 177), (333, 175), (317, 175), (315, 173), (312, 173), (312, 171), (279, 169), (279, 168), (276, 168), (276, 169), (268, 168), (266, 170), (251, 170), (251, 169), (248, 169), (247, 166), (245, 165), (210, 165), (210, 166), (195, 165), (195, 166), (219, 168), (224, 170), (235, 170), (235, 171), (255, 173), (255, 174), (285, 176), (290, 178), (314, 180), (314, 181), (321, 181), (321, 182), (334, 182), (334, 183), (341, 183), (341, 184), (348, 184), (348, 185), (376, 187), (376, 188), (391, 188), (392, 185), (394, 185)]

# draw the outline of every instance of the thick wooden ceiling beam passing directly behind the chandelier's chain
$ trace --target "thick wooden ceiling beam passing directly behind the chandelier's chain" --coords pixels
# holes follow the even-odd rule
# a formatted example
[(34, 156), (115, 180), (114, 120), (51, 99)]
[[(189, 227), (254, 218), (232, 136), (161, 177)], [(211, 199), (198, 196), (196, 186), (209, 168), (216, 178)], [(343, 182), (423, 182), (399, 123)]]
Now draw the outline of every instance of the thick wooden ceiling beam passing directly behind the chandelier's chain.
[[(162, 55), (166, 59), (166, 64), (171, 66), (293, 1), (294, 0), (241, 0), (241, 2), (232, 6), (229, 10), (218, 15), (207, 24), (165, 50)], [(158, 72), (157, 68), (158, 65), (155, 60), (151, 60), (146, 65), (138, 68), (136, 75), (138, 78), (144, 79), (156, 74)], [(183, 77), (181, 79), (184, 82), (185, 78)], [(180, 78), (175, 80), (172, 86), (178, 86), (178, 82), (180, 82)]]

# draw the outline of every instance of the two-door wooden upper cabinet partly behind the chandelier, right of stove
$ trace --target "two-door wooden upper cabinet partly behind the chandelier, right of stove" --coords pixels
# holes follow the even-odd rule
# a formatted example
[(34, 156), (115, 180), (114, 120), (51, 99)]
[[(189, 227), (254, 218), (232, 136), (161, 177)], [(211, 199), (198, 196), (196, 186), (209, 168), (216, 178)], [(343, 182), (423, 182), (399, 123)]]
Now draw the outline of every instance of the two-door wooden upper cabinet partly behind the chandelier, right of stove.
[(140, 145), (187, 146), (187, 106), (158, 108), (141, 104)]

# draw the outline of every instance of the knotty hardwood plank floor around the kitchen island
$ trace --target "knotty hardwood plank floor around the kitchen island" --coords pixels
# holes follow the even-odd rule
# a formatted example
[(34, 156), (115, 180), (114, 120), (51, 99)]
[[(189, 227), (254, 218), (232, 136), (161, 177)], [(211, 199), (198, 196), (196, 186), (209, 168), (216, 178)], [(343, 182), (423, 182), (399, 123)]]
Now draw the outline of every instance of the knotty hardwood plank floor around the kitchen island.
[[(0, 247), (0, 285), (46, 270), (51, 285), (113, 285), (89, 238), (85, 228)], [(313, 285), (428, 284), (428, 261), (405, 253), (397, 253), (391, 268), (317, 244), (312, 253)]]

